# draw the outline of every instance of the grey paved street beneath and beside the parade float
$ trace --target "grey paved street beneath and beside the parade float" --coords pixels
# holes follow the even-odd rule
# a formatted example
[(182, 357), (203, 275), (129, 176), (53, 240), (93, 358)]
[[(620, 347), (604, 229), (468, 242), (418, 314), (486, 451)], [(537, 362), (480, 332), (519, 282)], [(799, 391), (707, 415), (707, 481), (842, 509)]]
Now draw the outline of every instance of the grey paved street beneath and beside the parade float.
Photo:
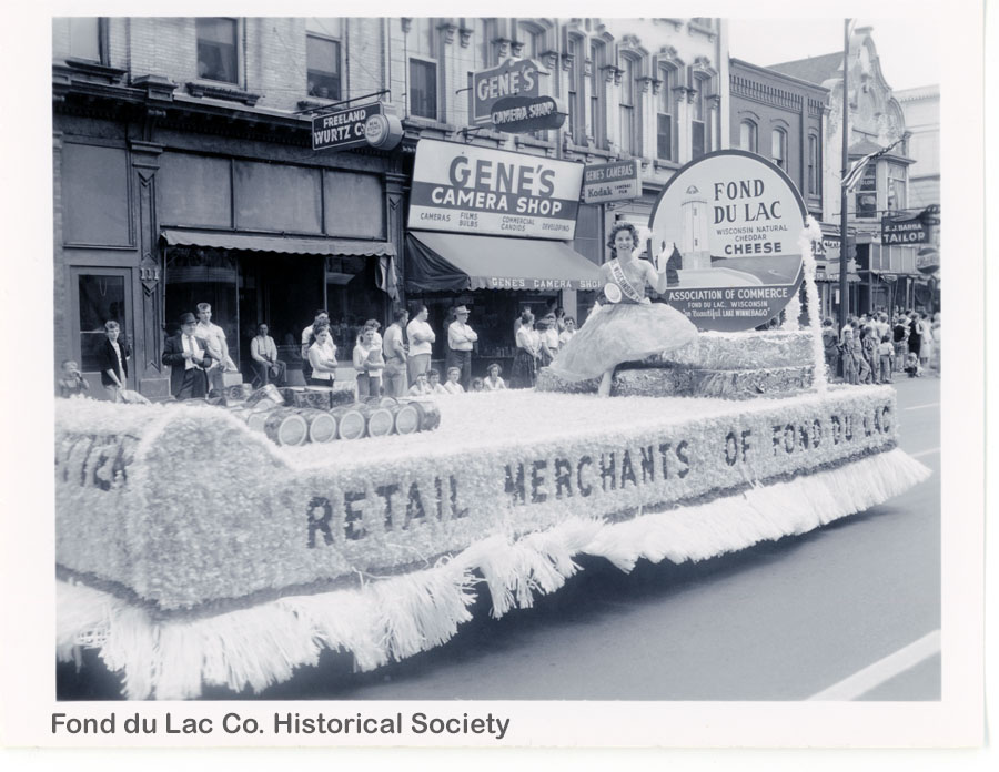
[(901, 447), (935, 475), (884, 506), (700, 565), (624, 575), (587, 560), (534, 609), (493, 620), (478, 608), (441, 649), (346, 681), (330, 662), (307, 687), (295, 679), (268, 697), (304, 687), (371, 700), (844, 699), (861, 695), (841, 682), (875, 666), (861, 699), (938, 699), (932, 641), (897, 674), (905, 657), (892, 656), (940, 628), (940, 382), (897, 389)]

